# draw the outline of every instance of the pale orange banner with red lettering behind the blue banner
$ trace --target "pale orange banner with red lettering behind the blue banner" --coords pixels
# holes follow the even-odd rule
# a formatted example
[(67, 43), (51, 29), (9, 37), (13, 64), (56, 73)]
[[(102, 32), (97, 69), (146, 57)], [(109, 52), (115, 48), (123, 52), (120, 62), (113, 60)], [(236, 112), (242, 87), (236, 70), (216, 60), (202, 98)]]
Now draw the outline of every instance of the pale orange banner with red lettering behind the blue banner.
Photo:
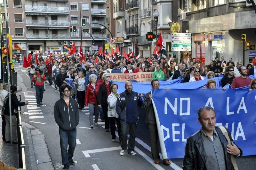
[[(113, 81), (122, 81), (125, 82), (129, 80), (129, 74), (118, 74), (118, 73), (110, 73), (110, 79)], [(137, 80), (138, 82), (151, 82), (153, 72), (140, 72), (140, 73), (133, 73), (133, 79)]]

